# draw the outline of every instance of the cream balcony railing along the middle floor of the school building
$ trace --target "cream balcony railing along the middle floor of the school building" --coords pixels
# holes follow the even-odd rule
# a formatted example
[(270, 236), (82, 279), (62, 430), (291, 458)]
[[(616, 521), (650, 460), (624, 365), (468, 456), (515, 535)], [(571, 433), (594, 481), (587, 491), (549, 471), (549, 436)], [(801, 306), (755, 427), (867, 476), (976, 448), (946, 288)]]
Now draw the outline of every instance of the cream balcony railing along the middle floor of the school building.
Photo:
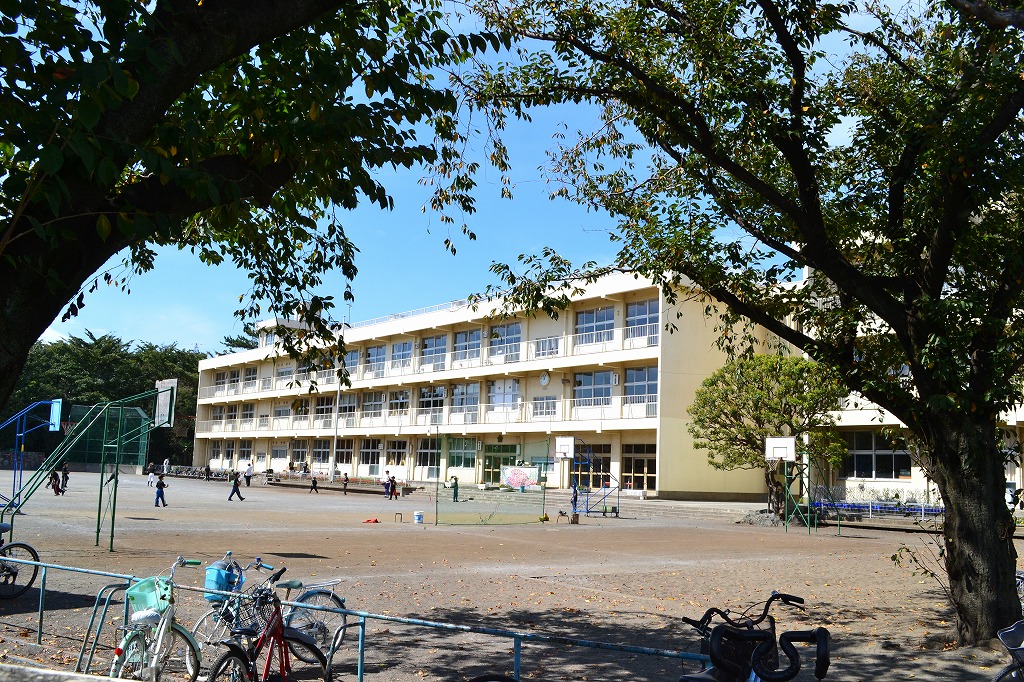
[[(387, 411), (346, 413), (341, 415), (338, 428), (392, 429), (404, 427), (464, 426), (472, 424), (528, 424), (573, 421), (610, 421), (652, 419), (657, 417), (656, 395), (612, 395), (598, 398), (517, 401), (481, 404), (475, 410), (429, 408), (409, 410), (401, 414)], [(198, 433), (238, 433), (283, 431), (333, 432), (334, 415), (290, 415), (258, 419), (214, 419), (196, 424)]]

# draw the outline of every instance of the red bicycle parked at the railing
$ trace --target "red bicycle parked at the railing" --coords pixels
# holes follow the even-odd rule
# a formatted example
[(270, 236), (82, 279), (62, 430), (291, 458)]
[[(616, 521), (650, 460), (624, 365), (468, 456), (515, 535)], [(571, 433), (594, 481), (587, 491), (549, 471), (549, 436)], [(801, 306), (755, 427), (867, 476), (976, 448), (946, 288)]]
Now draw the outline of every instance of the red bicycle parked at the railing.
[[(276, 583), (285, 570), (279, 569), (268, 582)], [(289, 583), (278, 583), (274, 587), (289, 589)], [(282, 682), (328, 682), (327, 658), (311, 637), (286, 625), (278, 593), (269, 587), (260, 587), (253, 600), (260, 620), (265, 621), (262, 632), (251, 627), (231, 629), (233, 639), (221, 642), (227, 650), (210, 667), (207, 682), (266, 682), (274, 674), (280, 675)]]

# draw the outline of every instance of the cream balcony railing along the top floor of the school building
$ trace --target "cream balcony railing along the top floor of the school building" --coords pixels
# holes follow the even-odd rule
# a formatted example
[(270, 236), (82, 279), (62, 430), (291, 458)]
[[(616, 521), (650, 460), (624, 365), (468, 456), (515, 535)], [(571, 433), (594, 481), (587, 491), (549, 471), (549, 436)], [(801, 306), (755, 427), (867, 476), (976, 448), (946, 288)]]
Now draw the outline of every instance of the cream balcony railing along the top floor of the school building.
[[(481, 344), (469, 349), (460, 348), (446, 353), (435, 353), (413, 358), (402, 357), (389, 361), (362, 364), (352, 368), (352, 381), (374, 381), (377, 379), (404, 378), (446, 369), (464, 370), (496, 365), (509, 365), (524, 360), (572, 357), (612, 350), (635, 350), (656, 346), (660, 340), (658, 324), (616, 327), (598, 332), (570, 334), (566, 336), (546, 336), (527, 341)], [(204, 386), (199, 389), (201, 398), (246, 395), (264, 391), (282, 391), (296, 386), (306, 386), (315, 381), (318, 386), (336, 386), (338, 375), (335, 370), (300, 372), (283, 377), (263, 377), (243, 383)]]

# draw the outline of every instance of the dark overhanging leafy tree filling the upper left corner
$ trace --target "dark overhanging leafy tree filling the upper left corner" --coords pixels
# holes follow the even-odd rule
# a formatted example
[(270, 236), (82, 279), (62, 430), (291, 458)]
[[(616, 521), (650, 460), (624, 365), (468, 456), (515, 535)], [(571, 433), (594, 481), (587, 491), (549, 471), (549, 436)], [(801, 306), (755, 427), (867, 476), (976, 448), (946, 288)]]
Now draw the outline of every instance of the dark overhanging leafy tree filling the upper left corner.
[[(454, 134), (455, 100), (431, 70), (497, 44), (442, 31), (438, 0), (0, 8), (0, 404), (54, 317), (155, 246), (248, 269), (240, 315), (301, 318), (290, 351), (335, 343), (316, 292), (356, 251), (337, 211), (389, 207), (374, 170), (436, 159), (419, 136)], [(123, 251), (127, 276), (96, 274)]]

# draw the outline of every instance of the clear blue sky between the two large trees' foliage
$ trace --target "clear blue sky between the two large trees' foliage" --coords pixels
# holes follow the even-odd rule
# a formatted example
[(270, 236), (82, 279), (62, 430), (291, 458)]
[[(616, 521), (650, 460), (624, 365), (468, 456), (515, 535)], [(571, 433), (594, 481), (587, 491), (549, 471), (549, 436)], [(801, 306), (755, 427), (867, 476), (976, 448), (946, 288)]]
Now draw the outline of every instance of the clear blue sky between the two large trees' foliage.
[[(423, 169), (382, 174), (394, 197), (394, 210), (367, 205), (344, 217), (346, 231), (359, 249), (352, 321), (481, 292), (495, 284), (487, 271), (492, 261), (512, 262), (518, 254), (538, 253), (544, 246), (555, 247), (573, 262), (608, 262), (614, 254), (607, 239), (611, 220), (564, 200), (550, 201), (550, 187), (538, 170), (545, 163), (544, 152), (553, 144), (556, 124), (566, 114), (579, 116), (580, 110), (538, 112), (532, 124), (511, 126), (506, 141), (513, 161), (514, 199), (501, 199), (498, 174), (485, 173), (477, 191), (478, 210), (468, 216), (477, 239), (470, 242), (461, 232), (454, 235), (456, 256), (444, 251), (449, 227), (436, 214), (421, 211), (429, 196), (429, 188), (418, 183)], [(571, 131), (589, 127), (589, 122), (568, 125)], [(338, 318), (347, 312), (341, 302), (344, 286), (338, 274), (335, 285), (321, 292), (339, 301)], [(125, 341), (214, 351), (224, 336), (242, 331), (232, 312), (249, 284), (245, 272), (230, 264), (210, 267), (188, 252), (165, 249), (159, 252), (156, 268), (136, 276), (130, 289), (124, 294), (101, 286), (86, 296), (77, 317), (54, 321), (43, 340), (84, 336), (89, 330)]]

